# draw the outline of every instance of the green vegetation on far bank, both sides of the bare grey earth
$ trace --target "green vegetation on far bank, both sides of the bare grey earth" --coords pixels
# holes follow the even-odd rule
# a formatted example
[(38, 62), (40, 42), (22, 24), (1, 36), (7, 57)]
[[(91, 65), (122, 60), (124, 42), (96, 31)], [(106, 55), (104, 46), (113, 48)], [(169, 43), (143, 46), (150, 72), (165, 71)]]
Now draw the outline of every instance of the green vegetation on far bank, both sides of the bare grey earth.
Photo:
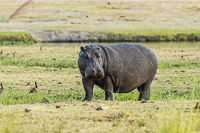
[[(91, 42), (183, 42), (183, 41), (200, 41), (200, 31), (130, 31), (129, 29), (106, 29), (99, 32), (90, 32), (89, 34), (96, 39), (91, 39)], [(89, 31), (88, 31), (89, 32)], [(186, 33), (184, 33), (186, 32)], [(188, 33), (187, 33), (188, 32)], [(57, 40), (59, 41), (59, 39)], [(77, 40), (78, 41), (78, 40)], [(0, 33), (0, 44), (21, 44), (35, 43), (28, 32), (2, 32)]]

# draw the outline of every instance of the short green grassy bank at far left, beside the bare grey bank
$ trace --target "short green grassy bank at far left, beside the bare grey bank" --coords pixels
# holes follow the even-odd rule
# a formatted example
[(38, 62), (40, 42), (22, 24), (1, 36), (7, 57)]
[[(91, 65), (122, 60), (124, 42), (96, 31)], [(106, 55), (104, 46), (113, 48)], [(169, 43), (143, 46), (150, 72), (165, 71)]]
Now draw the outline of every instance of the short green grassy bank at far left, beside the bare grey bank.
[(0, 44), (35, 43), (28, 32), (0, 32)]

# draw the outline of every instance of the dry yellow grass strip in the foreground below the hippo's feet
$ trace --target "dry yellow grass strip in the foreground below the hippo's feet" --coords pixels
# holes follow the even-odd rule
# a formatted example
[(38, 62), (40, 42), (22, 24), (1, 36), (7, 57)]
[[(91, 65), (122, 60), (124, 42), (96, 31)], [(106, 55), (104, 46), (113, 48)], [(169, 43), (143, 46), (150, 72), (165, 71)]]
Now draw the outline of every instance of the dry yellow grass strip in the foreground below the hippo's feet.
[(168, 100), (1, 106), (0, 131), (190, 132), (199, 126), (199, 113), (193, 111), (195, 104)]

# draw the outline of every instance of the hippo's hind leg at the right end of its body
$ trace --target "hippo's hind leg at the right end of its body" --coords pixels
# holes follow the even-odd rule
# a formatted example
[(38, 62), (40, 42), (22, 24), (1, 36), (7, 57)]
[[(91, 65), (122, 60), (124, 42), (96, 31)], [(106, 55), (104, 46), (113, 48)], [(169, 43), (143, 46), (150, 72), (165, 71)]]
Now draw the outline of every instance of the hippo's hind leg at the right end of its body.
[(144, 84), (140, 85), (137, 89), (140, 92), (138, 101), (149, 100), (150, 99), (150, 85), (153, 78), (148, 79)]

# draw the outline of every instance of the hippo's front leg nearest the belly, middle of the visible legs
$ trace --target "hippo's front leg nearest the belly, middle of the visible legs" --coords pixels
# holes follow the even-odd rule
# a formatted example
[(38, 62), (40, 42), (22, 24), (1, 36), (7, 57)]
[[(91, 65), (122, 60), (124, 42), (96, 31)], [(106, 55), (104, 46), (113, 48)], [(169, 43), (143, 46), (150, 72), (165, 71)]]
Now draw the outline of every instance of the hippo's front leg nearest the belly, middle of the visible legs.
[(113, 101), (113, 89), (114, 85), (110, 77), (106, 77), (104, 80), (104, 91), (105, 91), (105, 100)]

